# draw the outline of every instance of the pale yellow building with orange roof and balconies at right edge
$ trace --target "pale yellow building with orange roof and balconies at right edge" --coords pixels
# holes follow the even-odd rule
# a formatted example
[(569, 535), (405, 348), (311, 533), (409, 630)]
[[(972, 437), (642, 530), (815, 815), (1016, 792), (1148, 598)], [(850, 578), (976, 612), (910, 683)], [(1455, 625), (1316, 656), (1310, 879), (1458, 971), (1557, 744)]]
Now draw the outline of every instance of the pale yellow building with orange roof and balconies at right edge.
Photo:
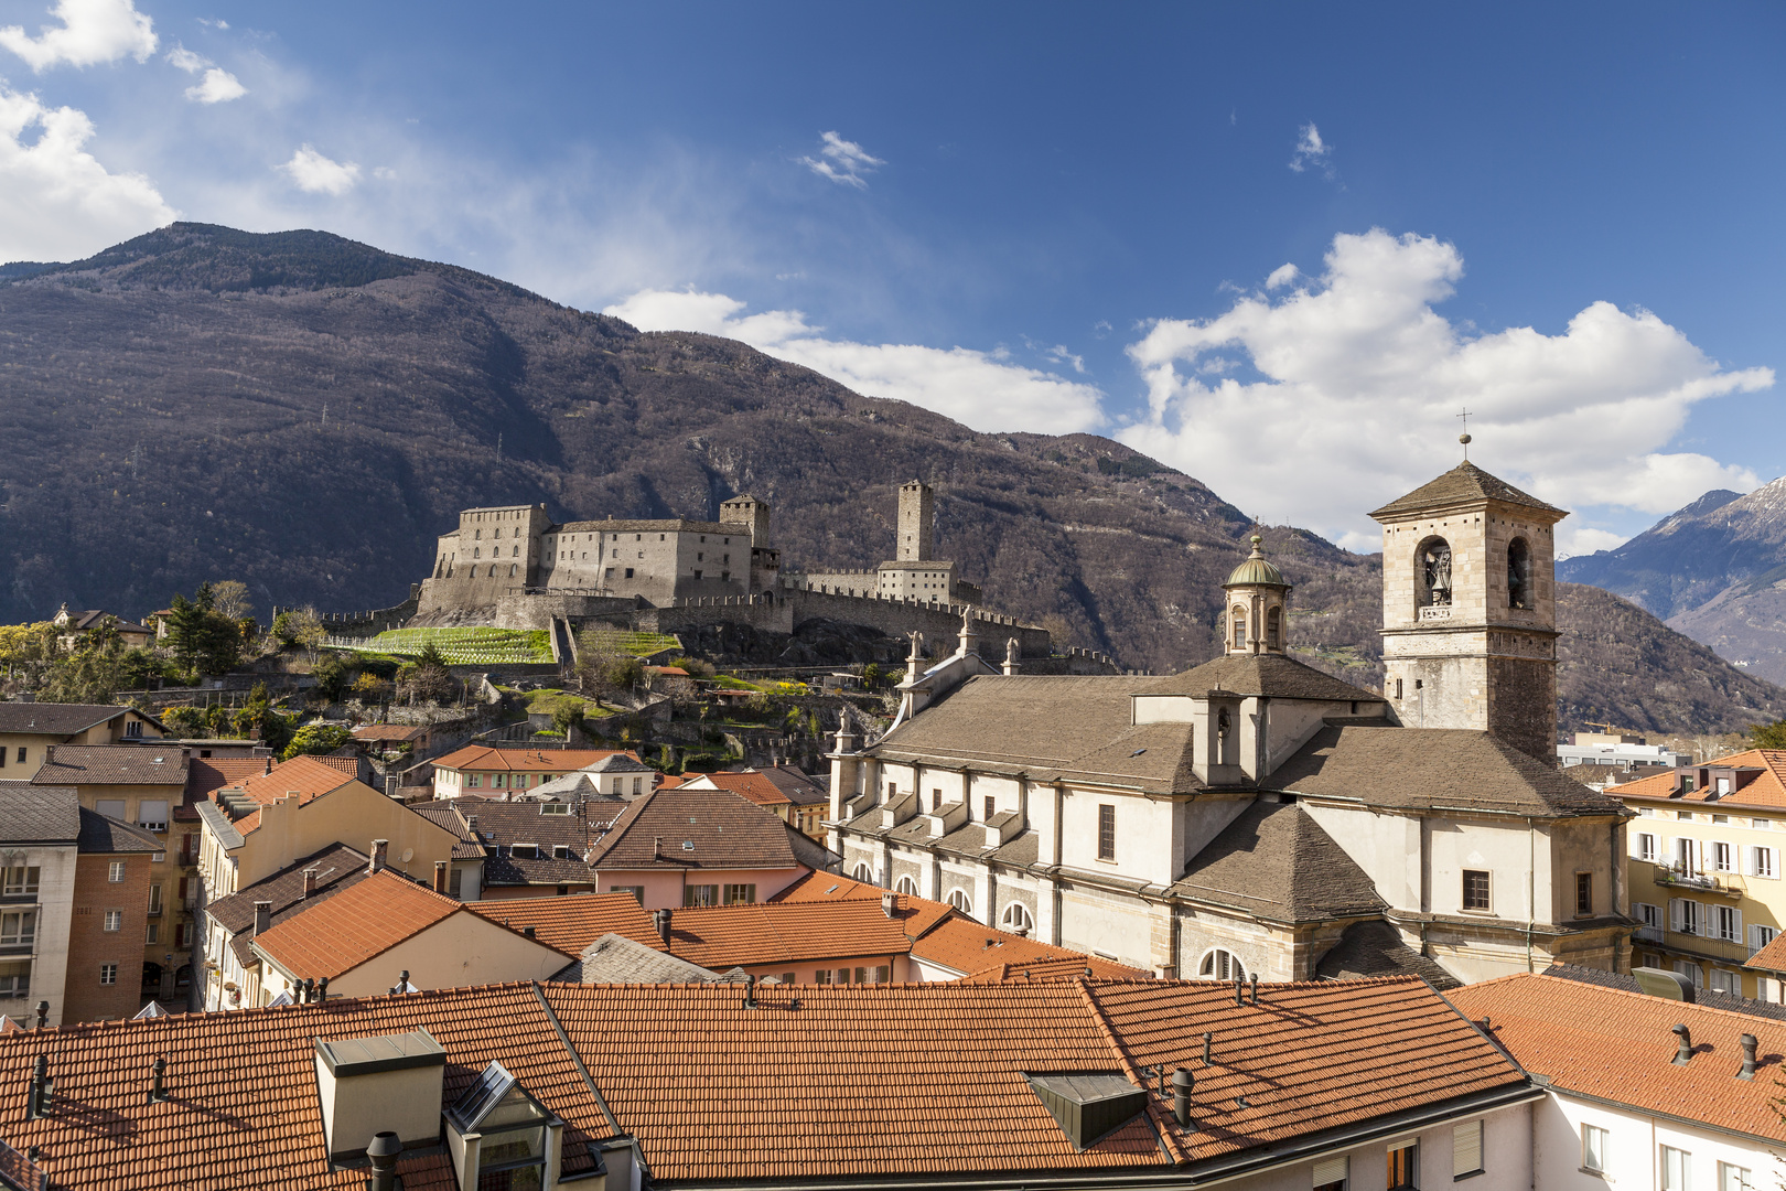
[(1786, 750), (1750, 748), (1606, 793), (1638, 812), (1627, 830), (1631, 916), (1641, 923), (1632, 962), (1781, 1002), (1781, 980), (1743, 964), (1786, 921)]

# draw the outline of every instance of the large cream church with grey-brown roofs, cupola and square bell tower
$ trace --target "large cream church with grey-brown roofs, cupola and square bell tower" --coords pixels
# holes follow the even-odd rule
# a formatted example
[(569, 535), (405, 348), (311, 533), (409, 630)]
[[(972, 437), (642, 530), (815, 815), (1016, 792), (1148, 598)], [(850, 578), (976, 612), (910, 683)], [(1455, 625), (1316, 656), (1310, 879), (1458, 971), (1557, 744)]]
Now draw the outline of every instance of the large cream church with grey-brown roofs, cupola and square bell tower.
[[(1625, 971), (1629, 812), (1556, 766), (1552, 530), (1465, 462), (1377, 509), (1384, 687), (1295, 661), (1252, 539), (1223, 654), (1023, 675), (972, 620), (830, 754), (843, 871), (1164, 977)], [(995, 932), (988, 932), (997, 961)]]

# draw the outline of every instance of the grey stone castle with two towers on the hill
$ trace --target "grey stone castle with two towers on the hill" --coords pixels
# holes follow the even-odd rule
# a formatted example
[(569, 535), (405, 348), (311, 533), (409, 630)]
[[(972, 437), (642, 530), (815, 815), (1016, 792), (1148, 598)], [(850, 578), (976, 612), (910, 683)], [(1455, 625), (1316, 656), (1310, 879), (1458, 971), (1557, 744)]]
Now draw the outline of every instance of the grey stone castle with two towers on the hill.
[(718, 521), (554, 523), (545, 505), (466, 509), (436, 543), (413, 623), (550, 629), (557, 641), (589, 621), (654, 632), (748, 623), (791, 634), (829, 620), (952, 641), (966, 616), (1004, 650), (1014, 641), (1025, 668), (1116, 670), (1086, 650), (1063, 662), (1045, 629), (973, 607), (981, 589), (938, 559), (934, 543), (936, 496), (916, 480), (898, 493), (895, 557), (861, 571), (784, 573), (770, 505), (755, 496), (727, 500)]

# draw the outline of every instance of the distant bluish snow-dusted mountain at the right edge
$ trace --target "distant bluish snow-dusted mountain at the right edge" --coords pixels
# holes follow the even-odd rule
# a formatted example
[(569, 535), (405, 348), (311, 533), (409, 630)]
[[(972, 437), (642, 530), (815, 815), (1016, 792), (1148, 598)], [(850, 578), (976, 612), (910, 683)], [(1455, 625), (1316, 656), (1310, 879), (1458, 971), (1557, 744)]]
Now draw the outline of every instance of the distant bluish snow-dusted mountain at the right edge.
[(1623, 595), (1725, 661), (1786, 682), (1786, 477), (1706, 493), (1616, 550), (1557, 575)]

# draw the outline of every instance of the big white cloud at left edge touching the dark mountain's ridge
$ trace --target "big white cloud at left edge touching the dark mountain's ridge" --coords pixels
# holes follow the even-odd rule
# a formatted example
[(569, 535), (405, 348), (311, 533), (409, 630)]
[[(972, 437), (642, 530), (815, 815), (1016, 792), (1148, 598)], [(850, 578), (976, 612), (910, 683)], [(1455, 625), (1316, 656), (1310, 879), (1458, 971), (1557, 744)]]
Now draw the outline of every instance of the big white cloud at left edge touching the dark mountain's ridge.
[(75, 261), (177, 218), (146, 177), (86, 152), (91, 137), (86, 112), (0, 84), (0, 261)]

